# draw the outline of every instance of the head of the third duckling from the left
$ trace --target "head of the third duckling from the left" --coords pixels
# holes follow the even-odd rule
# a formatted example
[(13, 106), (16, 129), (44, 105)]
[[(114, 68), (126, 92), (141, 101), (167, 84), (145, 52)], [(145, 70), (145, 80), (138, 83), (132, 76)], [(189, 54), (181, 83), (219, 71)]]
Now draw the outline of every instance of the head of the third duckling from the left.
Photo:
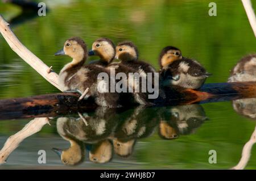
[(137, 47), (131, 41), (123, 41), (115, 47), (115, 58), (121, 61), (138, 60), (139, 53)]

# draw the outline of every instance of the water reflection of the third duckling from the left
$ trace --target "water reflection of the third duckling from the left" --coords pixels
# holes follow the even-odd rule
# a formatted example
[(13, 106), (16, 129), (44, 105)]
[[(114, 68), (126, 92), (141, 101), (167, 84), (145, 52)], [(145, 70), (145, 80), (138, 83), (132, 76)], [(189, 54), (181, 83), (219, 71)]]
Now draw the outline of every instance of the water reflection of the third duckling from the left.
[(114, 153), (120, 157), (129, 157), (134, 150), (138, 138), (151, 136), (158, 124), (158, 108), (138, 106), (135, 110), (127, 112), (130, 116), (122, 120), (112, 138)]

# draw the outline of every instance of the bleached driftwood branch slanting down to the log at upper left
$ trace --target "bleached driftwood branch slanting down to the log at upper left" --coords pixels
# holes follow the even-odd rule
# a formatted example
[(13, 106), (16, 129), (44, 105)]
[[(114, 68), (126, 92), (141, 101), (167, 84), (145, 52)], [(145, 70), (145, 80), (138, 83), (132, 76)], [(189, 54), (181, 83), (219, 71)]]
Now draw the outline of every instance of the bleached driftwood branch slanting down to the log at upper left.
[(44, 64), (42, 60), (36, 57), (35, 54), (30, 52), (30, 50), (28, 50), (22, 43), (20, 43), (18, 38), (14, 35), (13, 31), (11, 31), (9, 23), (7, 23), (5, 19), (3, 19), (2, 15), (0, 15), (0, 32), (7, 41), (7, 43), (10, 45), (11, 49), (13, 49), (14, 52), (20, 56), (20, 58), (26, 61), (49, 83), (51, 83), (57, 89), (61, 90), (57, 81), (58, 74), (56, 74), (55, 72), (49, 73), (49, 67)]

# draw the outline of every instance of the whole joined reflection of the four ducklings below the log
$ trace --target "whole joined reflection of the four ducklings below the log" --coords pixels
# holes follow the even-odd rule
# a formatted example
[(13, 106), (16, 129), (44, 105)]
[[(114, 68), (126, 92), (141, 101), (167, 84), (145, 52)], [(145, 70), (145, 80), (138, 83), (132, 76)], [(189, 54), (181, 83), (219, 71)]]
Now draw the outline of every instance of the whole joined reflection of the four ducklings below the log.
[(84, 161), (85, 151), (94, 163), (109, 162), (113, 154), (129, 157), (138, 139), (151, 136), (159, 127), (159, 136), (177, 138), (179, 134), (195, 132), (207, 119), (198, 104), (176, 107), (118, 110), (98, 107), (96, 112), (78, 114), (77, 117), (59, 117), (57, 132), (70, 142), (65, 150), (53, 149), (64, 165), (77, 165)]

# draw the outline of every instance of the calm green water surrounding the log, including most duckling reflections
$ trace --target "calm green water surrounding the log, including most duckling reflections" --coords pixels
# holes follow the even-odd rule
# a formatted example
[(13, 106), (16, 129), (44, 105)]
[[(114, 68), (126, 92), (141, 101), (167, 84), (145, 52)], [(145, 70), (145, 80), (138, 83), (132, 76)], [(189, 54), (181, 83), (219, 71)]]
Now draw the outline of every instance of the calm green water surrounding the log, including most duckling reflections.
[[(60, 61), (53, 53), (72, 36), (81, 36), (89, 47), (102, 36), (115, 43), (134, 41), (140, 57), (156, 69), (160, 50), (175, 45), (213, 74), (207, 83), (226, 82), (237, 61), (255, 52), (255, 37), (240, 1), (214, 1), (214, 17), (208, 15), (211, 1), (43, 2), (49, 8), (47, 16), (25, 22), (17, 21), (22, 11), (14, 5), (0, 2), (0, 13), (13, 22), (19, 40), (56, 72), (69, 58)], [(0, 42), (0, 99), (58, 92), (2, 36)], [(51, 125), (22, 141), (0, 169), (230, 169), (240, 161), (243, 146), (255, 129), (255, 120), (249, 118), (256, 112), (255, 104), (250, 99), (126, 111), (102, 108), (84, 114), (90, 127), (78, 114), (56, 117)], [(0, 121), (0, 147), (30, 120)], [(69, 142), (82, 150), (76, 152), (82, 155), (76, 167), (64, 166), (51, 150), (73, 153)], [(256, 169), (255, 149), (246, 169)], [(39, 150), (46, 151), (46, 164), (38, 163)], [(208, 162), (209, 150), (216, 150), (216, 164)]]

